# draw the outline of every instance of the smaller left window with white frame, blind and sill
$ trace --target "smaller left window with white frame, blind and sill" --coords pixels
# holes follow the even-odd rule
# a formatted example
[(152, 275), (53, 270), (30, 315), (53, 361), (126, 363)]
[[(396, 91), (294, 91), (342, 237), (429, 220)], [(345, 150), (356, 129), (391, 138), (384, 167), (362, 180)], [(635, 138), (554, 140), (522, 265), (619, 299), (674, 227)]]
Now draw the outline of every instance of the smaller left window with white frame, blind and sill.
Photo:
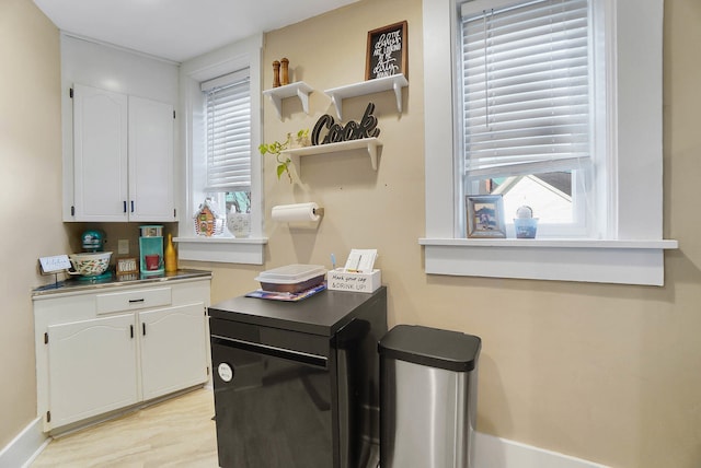
[[(184, 260), (263, 264), (262, 165), (252, 157), (261, 136), (262, 44), (256, 35), (181, 65), (187, 214), (175, 241)], [(225, 219), (215, 227), (221, 234), (198, 235), (197, 215), (211, 211)], [(248, 236), (232, 234), (226, 220), (238, 224), (235, 213), (248, 214)]]

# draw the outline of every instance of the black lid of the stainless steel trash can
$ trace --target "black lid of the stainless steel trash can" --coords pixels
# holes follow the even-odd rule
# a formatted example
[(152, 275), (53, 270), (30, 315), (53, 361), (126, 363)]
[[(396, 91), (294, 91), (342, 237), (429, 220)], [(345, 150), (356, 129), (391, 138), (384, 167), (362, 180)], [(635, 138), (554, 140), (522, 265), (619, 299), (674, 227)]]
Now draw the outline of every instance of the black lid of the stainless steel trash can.
[(474, 370), (482, 340), (459, 331), (398, 325), (378, 344), (380, 356), (455, 372)]

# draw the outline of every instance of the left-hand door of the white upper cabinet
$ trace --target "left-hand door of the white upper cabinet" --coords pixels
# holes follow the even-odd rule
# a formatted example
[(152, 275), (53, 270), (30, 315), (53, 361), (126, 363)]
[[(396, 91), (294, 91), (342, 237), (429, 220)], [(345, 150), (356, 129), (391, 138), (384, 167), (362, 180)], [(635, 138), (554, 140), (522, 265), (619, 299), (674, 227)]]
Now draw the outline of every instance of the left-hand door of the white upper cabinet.
[(126, 221), (127, 96), (73, 86), (73, 219)]

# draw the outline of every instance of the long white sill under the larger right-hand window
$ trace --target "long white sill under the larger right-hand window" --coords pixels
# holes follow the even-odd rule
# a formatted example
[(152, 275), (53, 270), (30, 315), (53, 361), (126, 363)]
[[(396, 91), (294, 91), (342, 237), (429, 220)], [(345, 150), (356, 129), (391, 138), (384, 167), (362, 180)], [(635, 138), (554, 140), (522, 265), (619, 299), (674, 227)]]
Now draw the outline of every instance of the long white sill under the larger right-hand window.
[(426, 273), (664, 285), (677, 241), (420, 238)]

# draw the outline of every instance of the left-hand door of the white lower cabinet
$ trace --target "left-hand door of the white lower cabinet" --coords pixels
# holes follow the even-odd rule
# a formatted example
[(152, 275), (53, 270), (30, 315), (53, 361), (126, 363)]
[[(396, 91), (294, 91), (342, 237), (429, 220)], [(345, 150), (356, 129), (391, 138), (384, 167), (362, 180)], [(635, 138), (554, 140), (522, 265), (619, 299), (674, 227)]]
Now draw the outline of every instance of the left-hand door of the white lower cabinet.
[(47, 330), (50, 426), (138, 401), (134, 314), (51, 325)]

